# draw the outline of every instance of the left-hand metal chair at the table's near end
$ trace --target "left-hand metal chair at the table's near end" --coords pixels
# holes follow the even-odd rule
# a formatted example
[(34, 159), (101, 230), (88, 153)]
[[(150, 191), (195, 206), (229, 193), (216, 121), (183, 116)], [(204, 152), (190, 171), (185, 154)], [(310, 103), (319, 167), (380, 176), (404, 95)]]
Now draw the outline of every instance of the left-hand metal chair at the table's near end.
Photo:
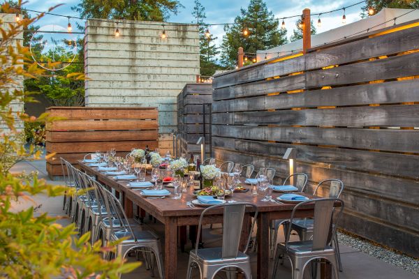
[[(251, 224), (249, 238), (247, 239), (246, 249), (243, 252), (240, 252), (240, 233), (242, 231), (242, 225), (244, 225), (243, 218), (246, 206), (252, 206), (255, 215)], [(203, 213), (201, 213), (196, 243), (198, 243), (200, 239), (200, 230), (205, 213), (219, 207), (224, 208), (223, 246), (219, 248), (205, 249), (198, 249), (198, 246), (196, 246), (195, 250), (191, 250), (189, 253), (188, 273), (186, 278), (191, 278), (193, 268), (196, 267), (198, 267), (200, 271), (200, 278), (212, 279), (217, 272), (226, 268), (241, 269), (247, 279), (251, 278), (250, 259), (249, 256), (246, 255), (246, 252), (247, 246), (249, 246), (251, 232), (258, 216), (258, 208), (256, 204), (251, 204), (249, 202), (236, 202), (234, 204), (216, 204), (208, 207), (203, 211)], [(230, 270), (227, 272), (230, 272)]]

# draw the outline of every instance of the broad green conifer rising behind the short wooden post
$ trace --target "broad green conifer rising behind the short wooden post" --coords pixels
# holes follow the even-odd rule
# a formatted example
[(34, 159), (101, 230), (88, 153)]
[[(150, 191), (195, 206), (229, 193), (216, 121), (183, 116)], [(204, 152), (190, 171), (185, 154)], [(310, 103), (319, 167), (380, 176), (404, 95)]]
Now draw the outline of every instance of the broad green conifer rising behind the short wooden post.
[[(244, 52), (256, 53), (287, 42), (286, 30), (278, 28), (279, 22), (272, 11), (268, 11), (263, 0), (251, 0), (247, 9), (242, 8), (233, 25), (226, 25), (221, 44), (221, 62), (232, 67), (236, 65), (237, 49), (243, 47)], [(249, 32), (244, 36), (243, 31)]]

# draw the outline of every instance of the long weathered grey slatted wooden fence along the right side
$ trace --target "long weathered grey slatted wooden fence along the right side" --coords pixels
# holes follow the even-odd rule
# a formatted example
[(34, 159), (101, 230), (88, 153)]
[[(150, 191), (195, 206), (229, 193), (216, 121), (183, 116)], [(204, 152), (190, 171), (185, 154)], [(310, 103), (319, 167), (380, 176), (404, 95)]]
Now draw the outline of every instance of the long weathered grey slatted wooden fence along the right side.
[[(419, 22), (216, 75), (219, 160), (274, 167), (297, 149), (310, 190), (344, 181), (341, 227), (419, 257)], [(312, 193), (312, 192), (311, 192)]]

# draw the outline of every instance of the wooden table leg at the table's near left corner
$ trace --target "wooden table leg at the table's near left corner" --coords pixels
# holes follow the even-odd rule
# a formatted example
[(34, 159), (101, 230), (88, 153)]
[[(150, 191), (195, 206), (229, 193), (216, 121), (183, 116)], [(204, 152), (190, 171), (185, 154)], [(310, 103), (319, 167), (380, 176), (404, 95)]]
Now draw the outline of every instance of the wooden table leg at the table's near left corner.
[(177, 273), (177, 218), (167, 217), (165, 222), (165, 278), (175, 279)]

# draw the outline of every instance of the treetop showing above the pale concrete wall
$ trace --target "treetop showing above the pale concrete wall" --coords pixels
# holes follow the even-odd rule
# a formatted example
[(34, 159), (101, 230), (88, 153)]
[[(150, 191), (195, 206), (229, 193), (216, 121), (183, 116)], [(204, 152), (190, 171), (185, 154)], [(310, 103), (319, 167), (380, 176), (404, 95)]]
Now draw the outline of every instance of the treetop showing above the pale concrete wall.
[(71, 9), (81, 17), (161, 22), (182, 7), (178, 0), (82, 0)]

